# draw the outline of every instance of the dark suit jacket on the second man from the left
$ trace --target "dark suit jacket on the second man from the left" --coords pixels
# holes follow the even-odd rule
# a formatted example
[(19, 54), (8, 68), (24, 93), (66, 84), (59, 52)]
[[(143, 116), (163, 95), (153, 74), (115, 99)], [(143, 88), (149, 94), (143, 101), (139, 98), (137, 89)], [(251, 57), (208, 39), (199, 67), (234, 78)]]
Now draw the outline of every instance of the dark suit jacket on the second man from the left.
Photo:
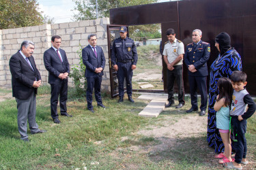
[(53, 47), (49, 48), (44, 52), (44, 66), (49, 72), (48, 83), (55, 84), (59, 79), (60, 73), (70, 73), (70, 64), (66, 52), (59, 48), (63, 62), (59, 59), (57, 52)]

